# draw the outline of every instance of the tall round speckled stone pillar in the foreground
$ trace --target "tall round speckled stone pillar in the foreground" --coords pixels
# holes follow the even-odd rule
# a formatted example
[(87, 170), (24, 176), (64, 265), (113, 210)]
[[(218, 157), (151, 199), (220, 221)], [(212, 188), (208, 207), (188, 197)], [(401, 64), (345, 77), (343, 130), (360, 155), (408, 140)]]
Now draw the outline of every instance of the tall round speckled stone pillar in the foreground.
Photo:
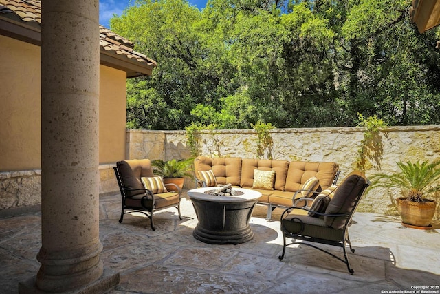
[[(33, 292), (87, 293), (104, 273), (99, 240), (99, 1), (41, 3), (42, 247)], [(94, 287), (89, 292), (97, 291)], [(19, 291), (28, 293), (29, 288), (20, 284)]]

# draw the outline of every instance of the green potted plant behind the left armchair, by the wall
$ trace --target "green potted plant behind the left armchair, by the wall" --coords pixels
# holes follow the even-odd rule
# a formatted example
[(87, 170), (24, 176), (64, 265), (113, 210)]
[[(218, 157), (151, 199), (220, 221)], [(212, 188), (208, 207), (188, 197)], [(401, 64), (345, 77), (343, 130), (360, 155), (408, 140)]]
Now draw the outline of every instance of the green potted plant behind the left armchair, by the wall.
[(194, 174), (192, 173), (193, 162), (194, 158), (185, 160), (172, 159), (168, 161), (157, 159), (151, 161), (151, 166), (155, 175), (164, 178), (164, 184), (172, 182), (182, 189), (185, 178), (194, 179)]

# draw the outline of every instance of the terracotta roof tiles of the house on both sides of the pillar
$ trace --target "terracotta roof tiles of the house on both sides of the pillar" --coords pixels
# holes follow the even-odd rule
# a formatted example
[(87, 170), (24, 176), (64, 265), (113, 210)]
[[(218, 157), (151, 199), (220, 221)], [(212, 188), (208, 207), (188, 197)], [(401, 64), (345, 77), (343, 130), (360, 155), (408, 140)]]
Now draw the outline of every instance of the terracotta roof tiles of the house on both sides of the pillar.
[[(20, 21), (41, 28), (41, 0), (0, 0), (0, 17), (7, 17), (14, 21)], [(99, 26), (100, 47), (106, 52), (114, 52), (137, 63), (155, 66), (156, 62), (146, 55), (133, 50), (134, 43), (112, 32), (104, 26)]]

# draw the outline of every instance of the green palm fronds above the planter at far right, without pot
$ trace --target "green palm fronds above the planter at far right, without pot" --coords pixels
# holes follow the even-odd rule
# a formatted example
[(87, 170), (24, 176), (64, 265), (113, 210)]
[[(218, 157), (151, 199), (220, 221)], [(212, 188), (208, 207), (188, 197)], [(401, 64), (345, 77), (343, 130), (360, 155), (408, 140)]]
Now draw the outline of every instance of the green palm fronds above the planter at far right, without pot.
[(429, 163), (397, 162), (400, 171), (395, 174), (379, 173), (371, 177), (371, 187), (396, 187), (406, 195), (406, 200), (426, 202), (425, 197), (440, 191), (440, 161)]

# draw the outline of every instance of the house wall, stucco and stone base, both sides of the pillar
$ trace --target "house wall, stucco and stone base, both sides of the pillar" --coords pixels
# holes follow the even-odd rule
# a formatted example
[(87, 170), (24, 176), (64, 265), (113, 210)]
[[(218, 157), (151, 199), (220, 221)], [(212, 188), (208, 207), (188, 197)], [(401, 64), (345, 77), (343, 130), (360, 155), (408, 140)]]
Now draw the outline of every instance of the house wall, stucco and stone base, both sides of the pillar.
[[(41, 202), (40, 47), (0, 35), (0, 211)], [(126, 72), (100, 65), (100, 193), (126, 156)]]

